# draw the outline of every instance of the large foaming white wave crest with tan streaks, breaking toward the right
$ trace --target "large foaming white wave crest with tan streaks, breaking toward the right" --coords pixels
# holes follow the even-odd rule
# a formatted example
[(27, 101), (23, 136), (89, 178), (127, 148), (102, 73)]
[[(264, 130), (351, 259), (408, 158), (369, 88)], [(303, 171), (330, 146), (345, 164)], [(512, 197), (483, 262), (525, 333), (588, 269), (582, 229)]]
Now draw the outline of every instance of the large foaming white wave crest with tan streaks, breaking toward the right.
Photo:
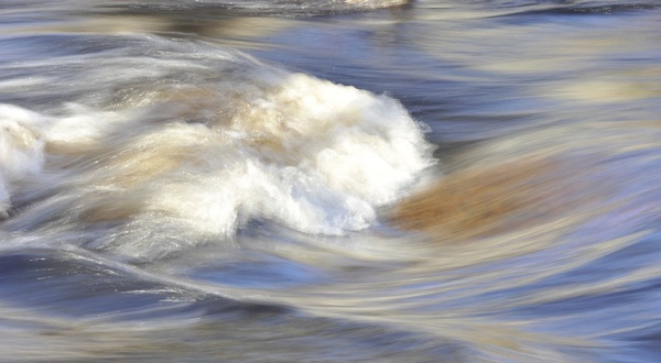
[[(12, 130), (0, 160), (3, 229), (148, 258), (230, 239), (254, 220), (343, 235), (375, 223), (432, 163), (424, 128), (391, 98), (150, 40), (136, 44), (151, 57), (129, 46), (63, 59), (79, 67), (73, 94), (102, 79), (104, 97), (52, 102), (54, 114), (0, 107)], [(122, 56), (108, 63), (108, 52)]]

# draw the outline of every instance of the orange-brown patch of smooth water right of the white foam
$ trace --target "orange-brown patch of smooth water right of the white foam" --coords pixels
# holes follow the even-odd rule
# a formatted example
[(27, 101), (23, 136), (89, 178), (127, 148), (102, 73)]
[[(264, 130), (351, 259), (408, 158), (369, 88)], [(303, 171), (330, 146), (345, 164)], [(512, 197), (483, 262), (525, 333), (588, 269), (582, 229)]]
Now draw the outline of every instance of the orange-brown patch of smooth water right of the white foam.
[(456, 172), (401, 201), (391, 221), (405, 230), (469, 239), (560, 218), (599, 194), (582, 178), (581, 167), (589, 165), (572, 164), (550, 157)]

